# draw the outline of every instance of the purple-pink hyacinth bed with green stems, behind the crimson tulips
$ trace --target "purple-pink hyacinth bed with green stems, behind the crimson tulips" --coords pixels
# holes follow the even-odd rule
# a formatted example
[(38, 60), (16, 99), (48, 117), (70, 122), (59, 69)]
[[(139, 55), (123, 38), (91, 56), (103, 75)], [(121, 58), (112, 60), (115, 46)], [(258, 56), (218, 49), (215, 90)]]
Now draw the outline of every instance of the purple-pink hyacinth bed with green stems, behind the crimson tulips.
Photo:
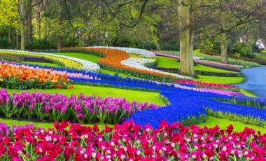
[(0, 90), (0, 115), (7, 118), (37, 118), (39, 120), (72, 120), (78, 123), (120, 123), (135, 111), (157, 109), (158, 105), (127, 102), (126, 99), (85, 97), (80, 94), (66, 97), (64, 94), (43, 92), (13, 93)]

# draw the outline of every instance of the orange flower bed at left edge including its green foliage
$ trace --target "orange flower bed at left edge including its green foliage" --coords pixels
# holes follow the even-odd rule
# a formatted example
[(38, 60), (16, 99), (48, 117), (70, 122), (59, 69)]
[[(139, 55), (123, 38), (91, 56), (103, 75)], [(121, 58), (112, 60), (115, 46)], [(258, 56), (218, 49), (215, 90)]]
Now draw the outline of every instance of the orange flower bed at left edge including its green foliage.
[(29, 88), (66, 88), (69, 79), (64, 74), (55, 74), (45, 69), (32, 69), (0, 63), (0, 86), (25, 90)]

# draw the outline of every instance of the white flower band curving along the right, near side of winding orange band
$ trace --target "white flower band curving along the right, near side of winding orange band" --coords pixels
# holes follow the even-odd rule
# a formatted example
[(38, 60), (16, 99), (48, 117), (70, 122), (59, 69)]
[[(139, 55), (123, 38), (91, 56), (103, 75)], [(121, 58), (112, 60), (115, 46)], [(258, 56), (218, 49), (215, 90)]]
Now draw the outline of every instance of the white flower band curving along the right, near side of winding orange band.
[(174, 73), (167, 73), (165, 71), (159, 71), (156, 69), (151, 69), (148, 68), (147, 66), (145, 66), (145, 64), (147, 63), (152, 63), (154, 60), (152, 59), (145, 59), (145, 58), (136, 58), (136, 57), (130, 57), (129, 59), (125, 59), (121, 62), (121, 64), (127, 65), (127, 66), (131, 66), (133, 68), (137, 68), (137, 69), (143, 69), (146, 71), (153, 71), (155, 73), (163, 73), (169, 76), (175, 76), (176, 78), (182, 78), (182, 79), (192, 79), (191, 77), (188, 76), (181, 76), (179, 74), (174, 74)]

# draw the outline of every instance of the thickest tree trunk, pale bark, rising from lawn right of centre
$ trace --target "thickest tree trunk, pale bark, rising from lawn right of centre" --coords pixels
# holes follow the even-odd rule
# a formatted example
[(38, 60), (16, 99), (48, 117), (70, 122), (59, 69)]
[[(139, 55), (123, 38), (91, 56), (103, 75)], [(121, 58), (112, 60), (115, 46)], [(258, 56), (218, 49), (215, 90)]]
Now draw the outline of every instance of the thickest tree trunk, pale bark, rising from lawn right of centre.
[[(179, 2), (182, 2), (179, 1)], [(186, 76), (195, 76), (193, 63), (193, 43), (194, 30), (190, 27), (191, 5), (181, 3), (179, 5), (179, 25), (180, 25), (180, 66), (179, 71)]]

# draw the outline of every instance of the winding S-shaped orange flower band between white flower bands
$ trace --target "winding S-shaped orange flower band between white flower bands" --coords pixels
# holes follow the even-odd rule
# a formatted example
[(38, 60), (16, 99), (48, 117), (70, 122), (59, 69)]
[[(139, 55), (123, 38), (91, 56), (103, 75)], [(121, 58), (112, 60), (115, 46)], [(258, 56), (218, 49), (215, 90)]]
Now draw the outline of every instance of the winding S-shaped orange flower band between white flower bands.
[(132, 71), (138, 71), (141, 73), (147, 73), (151, 74), (153, 76), (165, 76), (165, 77), (173, 77), (172, 75), (164, 74), (164, 73), (158, 73), (154, 71), (147, 71), (143, 69), (137, 69), (133, 68), (131, 66), (126, 66), (124, 64), (121, 64), (121, 62), (125, 59), (130, 58), (130, 55), (127, 54), (127, 52), (123, 50), (117, 50), (117, 49), (109, 49), (109, 48), (90, 48), (90, 47), (84, 47), (84, 48), (58, 48), (62, 50), (93, 50), (102, 52), (105, 57), (99, 59), (99, 63), (106, 64), (109, 66), (112, 66), (114, 68), (118, 69), (127, 69)]

